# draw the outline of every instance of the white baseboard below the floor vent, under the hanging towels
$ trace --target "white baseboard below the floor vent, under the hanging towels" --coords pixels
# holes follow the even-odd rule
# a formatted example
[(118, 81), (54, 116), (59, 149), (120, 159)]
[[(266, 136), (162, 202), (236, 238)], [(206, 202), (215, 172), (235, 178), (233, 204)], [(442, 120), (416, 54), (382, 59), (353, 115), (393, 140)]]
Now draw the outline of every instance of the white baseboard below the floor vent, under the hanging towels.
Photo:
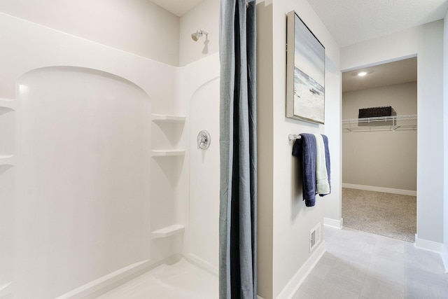
[(279, 295), (276, 297), (277, 299), (291, 299), (297, 293), (297, 290), (302, 285), (303, 281), (308, 277), (311, 270), (314, 269), (314, 266), (321, 260), (323, 254), (326, 252), (325, 242), (321, 242), (318, 247), (311, 253), (311, 256), (307, 259), (307, 261), (300, 267), (300, 269), (295, 272), (294, 276), (288, 281), (288, 284), (281, 290)]

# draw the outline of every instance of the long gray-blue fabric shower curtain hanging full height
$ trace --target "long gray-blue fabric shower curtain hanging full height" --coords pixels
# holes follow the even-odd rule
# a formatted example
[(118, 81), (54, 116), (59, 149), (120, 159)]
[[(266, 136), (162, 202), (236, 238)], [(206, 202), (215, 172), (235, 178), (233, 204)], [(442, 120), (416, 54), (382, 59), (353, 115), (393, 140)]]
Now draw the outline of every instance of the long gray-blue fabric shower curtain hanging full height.
[(221, 0), (221, 299), (257, 297), (255, 9), (255, 0)]

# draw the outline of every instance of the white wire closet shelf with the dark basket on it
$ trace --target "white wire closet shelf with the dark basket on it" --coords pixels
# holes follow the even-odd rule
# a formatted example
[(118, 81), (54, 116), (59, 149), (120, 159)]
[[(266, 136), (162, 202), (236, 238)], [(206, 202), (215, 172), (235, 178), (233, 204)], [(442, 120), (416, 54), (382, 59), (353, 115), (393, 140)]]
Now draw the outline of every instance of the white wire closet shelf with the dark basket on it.
[(381, 116), (342, 120), (342, 132), (378, 132), (417, 130), (417, 116)]

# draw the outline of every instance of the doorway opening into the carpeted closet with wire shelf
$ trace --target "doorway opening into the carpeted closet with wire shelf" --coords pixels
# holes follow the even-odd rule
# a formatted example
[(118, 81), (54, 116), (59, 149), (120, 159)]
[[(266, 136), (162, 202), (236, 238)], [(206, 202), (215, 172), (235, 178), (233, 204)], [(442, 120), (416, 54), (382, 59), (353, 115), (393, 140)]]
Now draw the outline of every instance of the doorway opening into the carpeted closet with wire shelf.
[(415, 242), (417, 57), (342, 74), (344, 226)]

